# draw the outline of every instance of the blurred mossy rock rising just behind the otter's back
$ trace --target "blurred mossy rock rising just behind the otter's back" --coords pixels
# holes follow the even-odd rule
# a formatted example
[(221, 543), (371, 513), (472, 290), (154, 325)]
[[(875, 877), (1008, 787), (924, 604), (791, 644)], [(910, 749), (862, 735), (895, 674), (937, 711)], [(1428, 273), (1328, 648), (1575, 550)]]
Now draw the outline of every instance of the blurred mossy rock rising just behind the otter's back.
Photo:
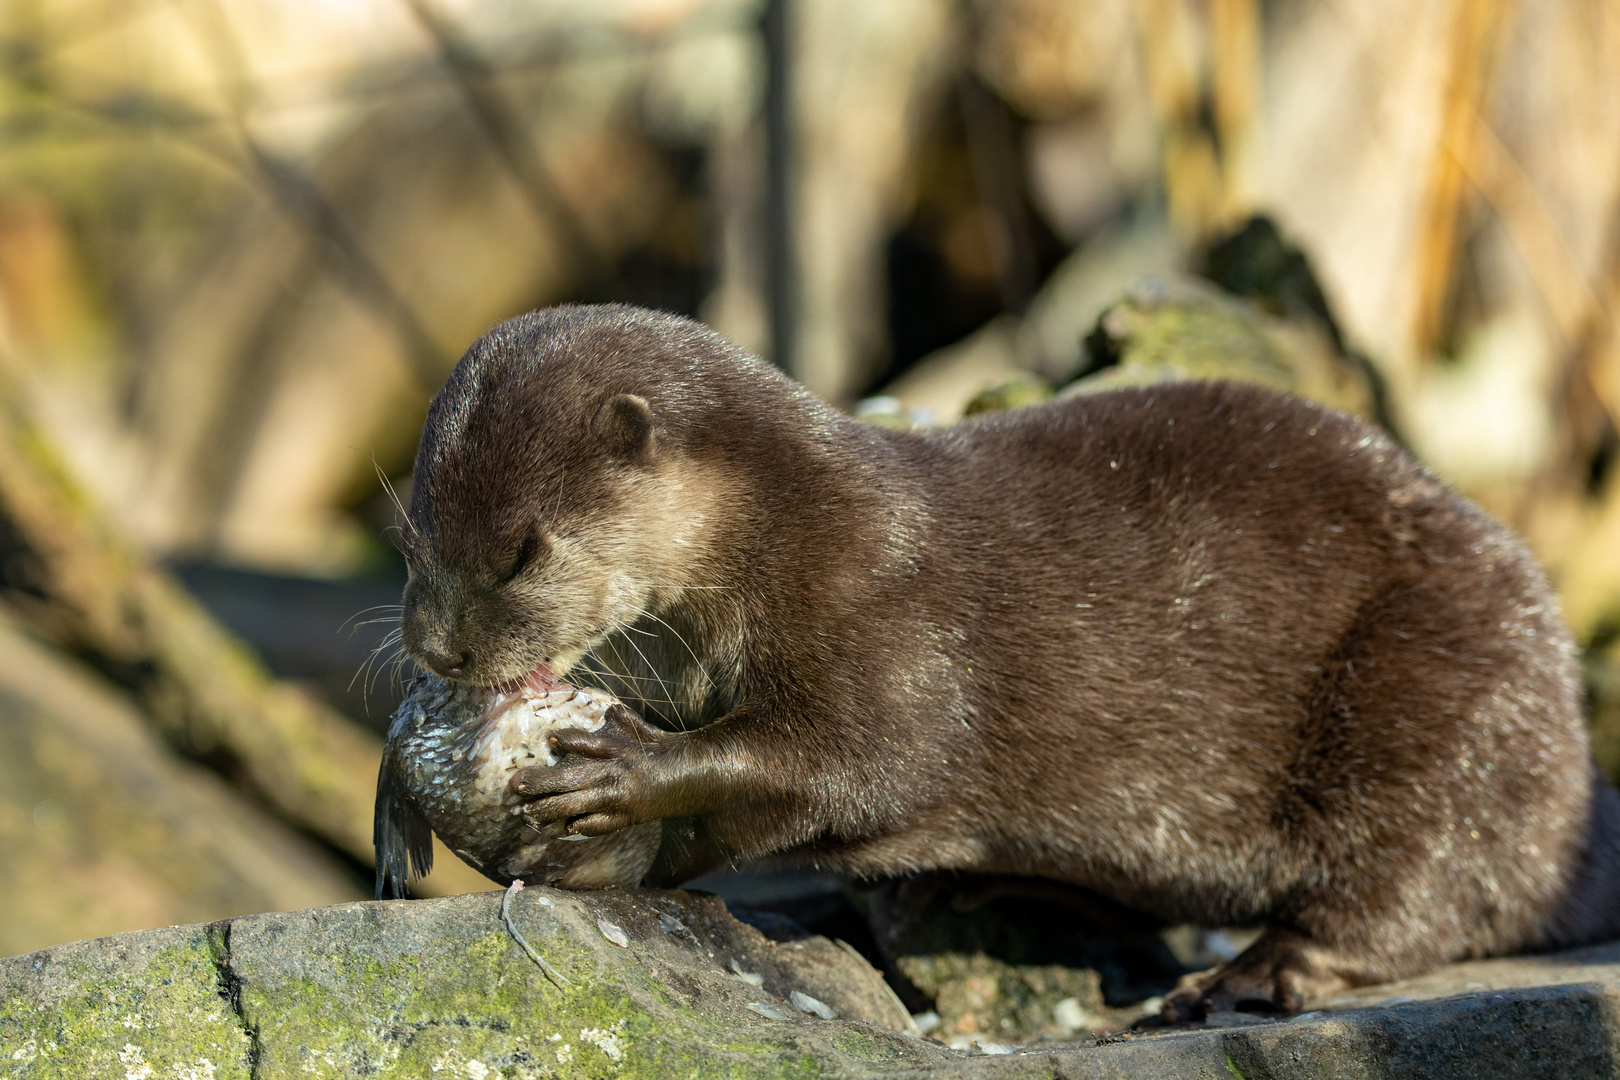
[[(1257, 233), (1270, 243), (1256, 241)], [(1230, 279), (1246, 296), (1176, 274), (1181, 261), (1163, 222), (1145, 219), (1113, 230), (1071, 256), (1022, 321), (993, 319), (922, 358), (883, 393), (904, 416), (953, 423), (1043, 400), (1048, 382), (1068, 382), (1061, 397), (1069, 397), (1173, 379), (1230, 379), (1388, 426), (1377, 372), (1346, 351), (1304, 256), (1275, 228), (1251, 223), (1205, 253), (1205, 272)], [(1132, 279), (1121, 296), (1121, 285)]]

